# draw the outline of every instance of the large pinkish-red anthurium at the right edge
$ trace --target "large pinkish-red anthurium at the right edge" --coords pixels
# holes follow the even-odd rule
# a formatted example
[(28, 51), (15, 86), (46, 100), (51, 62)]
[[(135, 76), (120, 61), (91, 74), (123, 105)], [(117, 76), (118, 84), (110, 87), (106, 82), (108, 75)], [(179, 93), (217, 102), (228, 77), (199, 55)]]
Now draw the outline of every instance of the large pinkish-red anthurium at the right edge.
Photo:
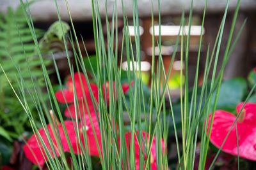
[[(243, 103), (240, 103), (236, 107), (237, 114), (241, 111), (236, 122), (237, 131), (236, 125), (230, 131), (233, 122), (236, 120), (235, 115), (223, 110), (215, 111), (210, 140), (213, 145), (220, 148), (228, 131), (230, 131), (221, 150), (232, 155), (238, 155), (239, 153), (239, 157), (256, 160), (256, 103), (246, 103), (243, 110), (241, 110), (242, 106)], [(212, 114), (209, 115), (208, 129), (211, 117)], [(237, 139), (239, 149), (237, 149)]]

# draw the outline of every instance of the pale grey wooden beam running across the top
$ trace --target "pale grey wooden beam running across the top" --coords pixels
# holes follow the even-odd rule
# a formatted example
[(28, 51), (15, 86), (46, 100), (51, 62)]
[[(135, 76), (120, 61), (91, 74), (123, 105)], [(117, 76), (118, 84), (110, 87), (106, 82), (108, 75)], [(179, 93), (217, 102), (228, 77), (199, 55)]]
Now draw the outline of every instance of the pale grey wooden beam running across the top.
[[(122, 17), (122, 4), (121, 0), (117, 1), (118, 16)], [(204, 10), (205, 0), (195, 0), (193, 9), (196, 13), (202, 13)], [(105, 0), (99, 0), (100, 15), (105, 17)], [(208, 13), (220, 13), (223, 12), (226, 5), (225, 0), (209, 0), (208, 1)], [(230, 0), (228, 10), (232, 11), (236, 8), (237, 0)], [(108, 15), (112, 15), (113, 5), (115, 0), (109, 0), (108, 4)], [(8, 6), (16, 8), (19, 5), (19, 1), (11, 0), (1, 0), (0, 1), (0, 11), (6, 11)], [(74, 21), (81, 20), (92, 20), (92, 7), (91, 0), (68, 0), (68, 5), (70, 12), (72, 14), (72, 19)], [(154, 13), (157, 15), (157, 1), (153, 1)], [(65, 1), (58, 1), (58, 6), (60, 8), (61, 18), (63, 20), (69, 20), (67, 7)], [(125, 12), (127, 17), (132, 17), (132, 1), (124, 1)], [(180, 0), (161, 0), (161, 14), (162, 15), (180, 15), (182, 10), (185, 12), (189, 11), (190, 3), (188, 1)], [(58, 16), (56, 13), (56, 6), (53, 1), (40, 0), (36, 1), (31, 5), (31, 14), (36, 20), (48, 21), (57, 20)], [(256, 10), (255, 0), (243, 0), (241, 1), (241, 10)], [(151, 15), (151, 0), (140, 0), (138, 1), (138, 11), (140, 17), (149, 17)]]

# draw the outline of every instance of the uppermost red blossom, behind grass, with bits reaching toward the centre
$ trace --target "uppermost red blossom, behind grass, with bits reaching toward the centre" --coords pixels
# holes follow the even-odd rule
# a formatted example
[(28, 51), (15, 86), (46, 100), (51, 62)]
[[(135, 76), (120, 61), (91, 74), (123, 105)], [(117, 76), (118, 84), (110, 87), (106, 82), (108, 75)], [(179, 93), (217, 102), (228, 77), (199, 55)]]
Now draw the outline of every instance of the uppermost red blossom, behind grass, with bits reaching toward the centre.
[[(131, 82), (131, 85), (133, 85), (133, 82)], [(74, 88), (73, 88), (73, 81), (72, 77), (69, 76), (67, 83), (66, 83), (67, 89), (59, 90), (56, 92), (55, 96), (56, 99), (60, 103), (65, 103), (65, 100), (67, 103), (72, 103), (68, 106), (68, 108), (64, 111), (65, 117), (68, 118), (76, 118), (76, 109), (74, 104)], [(74, 73), (74, 87), (76, 89), (76, 96), (78, 100), (77, 104), (77, 118), (80, 118), (80, 116), (87, 115), (88, 111), (90, 113), (95, 113), (95, 109), (97, 109), (97, 103), (99, 102), (99, 89), (97, 85), (90, 83), (90, 88), (92, 89), (92, 95), (96, 101), (95, 103), (95, 109), (93, 107), (93, 97), (90, 95), (90, 89), (88, 84), (86, 83), (86, 78), (84, 74), (81, 73)], [(106, 99), (106, 103), (109, 104), (109, 82), (106, 82), (104, 85), (102, 85), (102, 90), (104, 93), (104, 99)], [(124, 83), (122, 85), (122, 90), (127, 92), (129, 90), (129, 84)], [(106, 94), (105, 94), (106, 93)], [(113, 82), (113, 94), (115, 94), (116, 99), (116, 92), (115, 92), (115, 82)], [(86, 108), (86, 103), (88, 104), (88, 110)]]

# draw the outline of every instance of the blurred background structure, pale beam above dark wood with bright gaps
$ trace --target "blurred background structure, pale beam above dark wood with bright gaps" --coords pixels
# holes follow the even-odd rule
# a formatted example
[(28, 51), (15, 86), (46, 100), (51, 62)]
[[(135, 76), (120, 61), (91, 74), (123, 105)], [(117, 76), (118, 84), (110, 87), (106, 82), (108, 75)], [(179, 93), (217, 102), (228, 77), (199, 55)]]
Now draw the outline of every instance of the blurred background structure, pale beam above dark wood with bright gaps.
[[(95, 54), (95, 45), (93, 41), (93, 24), (92, 24), (92, 8), (91, 1), (89, 0), (68, 0), (68, 5), (70, 6), (70, 12), (72, 15), (72, 20), (76, 27), (76, 34), (79, 38), (79, 44), (83, 55), (86, 56), (86, 50), (89, 55)], [(20, 1), (18, 0), (1, 0), (0, 1), (0, 12), (7, 12), (9, 7), (17, 8)], [(200, 39), (200, 31), (203, 29), (204, 39), (203, 46), (201, 50), (200, 58), (200, 70), (204, 71), (205, 55), (207, 46), (210, 45), (210, 49), (214, 45), (218, 29), (220, 27), (221, 19), (223, 17), (223, 11), (225, 4), (227, 2), (223, 0), (209, 0), (207, 15), (205, 18), (204, 27), (201, 27), (202, 24), (202, 14), (204, 11), (204, 0), (195, 0), (194, 1), (194, 11), (193, 11), (193, 21), (191, 27), (191, 43), (189, 47), (189, 76), (191, 83), (193, 83), (193, 75), (195, 73), (196, 67), (196, 57), (198, 55), (198, 43)], [(223, 53), (228, 39), (229, 30), (232, 23), (232, 15), (236, 8), (237, 1), (231, 0), (228, 8), (228, 16), (225, 24), (225, 31), (223, 34), (223, 41), (221, 43), (220, 51), (220, 62), (223, 59)], [(113, 5), (115, 4), (114, 0), (109, 0), (107, 3), (104, 0), (99, 0), (100, 5), (100, 15), (102, 15), (102, 20), (106, 20), (106, 8), (108, 8), (109, 22), (111, 22), (111, 11), (113, 11)], [(154, 69), (151, 67), (152, 62), (152, 21), (151, 21), (151, 6), (154, 6), (154, 26), (156, 33), (156, 49), (155, 55), (158, 55), (159, 48), (157, 47), (157, 38), (158, 38), (158, 29), (161, 27), (162, 32), (162, 45), (161, 52), (164, 59), (164, 64), (166, 69), (170, 66), (171, 55), (173, 52), (173, 47), (175, 44), (175, 39), (179, 36), (179, 24), (180, 16), (182, 11), (185, 11), (186, 17), (188, 18), (188, 11), (190, 6), (190, 1), (188, 0), (161, 0), (161, 25), (157, 22), (158, 20), (158, 10), (157, 10), (157, 1), (150, 0), (140, 0), (138, 1), (138, 11), (140, 16), (140, 39), (141, 39), (141, 68), (143, 69), (143, 81), (149, 85), (150, 80), (150, 70)], [(65, 20), (70, 24), (70, 18), (68, 16), (67, 7), (65, 1), (58, 1), (58, 6), (60, 8), (60, 14), (62, 20)], [(122, 16), (122, 3), (117, 1), (118, 9), (118, 39), (122, 41), (123, 34), (123, 16)], [(132, 22), (132, 1), (124, 1), (125, 12), (128, 17), (129, 22), (129, 32), (131, 36), (134, 36), (134, 28)], [(58, 20), (58, 15), (56, 13), (56, 5), (52, 1), (40, 0), (35, 1), (31, 4), (30, 7), (31, 15), (35, 18), (35, 26), (39, 29), (47, 30), (49, 26), (56, 20)], [(227, 64), (224, 73), (224, 80), (233, 78), (235, 76), (246, 76), (248, 72), (256, 66), (256, 1), (255, 0), (242, 0), (241, 1), (241, 10), (237, 20), (237, 25), (235, 32), (239, 31), (244, 20), (246, 25), (244, 31), (241, 34), (239, 41), (237, 42), (236, 48), (230, 57), (230, 60)], [(102, 23), (105, 23), (104, 21)], [(188, 25), (186, 23), (185, 25)], [(104, 31), (106, 35), (106, 25), (104, 25)], [(185, 27), (188, 29), (188, 27)], [(185, 32), (186, 34), (187, 32)], [(236, 33), (235, 33), (236, 34)], [(83, 47), (83, 41), (85, 42), (86, 50)], [(121, 48), (122, 43), (119, 43), (118, 48)], [(69, 46), (70, 50), (72, 49)], [(178, 50), (179, 51), (179, 50)], [(121, 53), (119, 51), (119, 53)], [(179, 53), (176, 55), (175, 62), (172, 67), (172, 75), (170, 76), (169, 87), (173, 90), (175, 94), (175, 89), (180, 87), (179, 82), (179, 71), (180, 69), (180, 59)], [(127, 62), (125, 62), (125, 53), (124, 53), (124, 62), (122, 63), (122, 68), (127, 67)], [(136, 57), (136, 56), (135, 56)], [(67, 56), (65, 53), (59, 53), (58, 57), (58, 67), (60, 69), (61, 76), (65, 77), (68, 74), (67, 66)], [(138, 60), (138, 59), (135, 59)], [(156, 57), (157, 62), (157, 57)], [(220, 69), (220, 68), (219, 68)], [(202, 73), (200, 73), (202, 77)], [(179, 96), (179, 94), (177, 94)]]

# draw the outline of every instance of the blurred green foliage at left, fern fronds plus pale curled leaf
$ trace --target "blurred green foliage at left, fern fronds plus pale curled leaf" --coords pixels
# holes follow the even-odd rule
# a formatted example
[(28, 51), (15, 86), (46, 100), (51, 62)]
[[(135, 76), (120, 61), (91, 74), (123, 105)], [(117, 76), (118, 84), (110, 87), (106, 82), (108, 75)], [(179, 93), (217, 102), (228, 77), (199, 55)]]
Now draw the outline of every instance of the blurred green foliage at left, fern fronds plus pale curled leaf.
[[(25, 4), (27, 8), (29, 4)], [(62, 22), (65, 34), (69, 31), (67, 23)], [(63, 34), (60, 31), (60, 22), (54, 22), (47, 32), (35, 29), (36, 38), (40, 39), (39, 47), (42, 55), (52, 55), (63, 46)], [(65, 36), (65, 35), (64, 35)], [(56, 50), (56, 42), (58, 49)], [(53, 45), (54, 44), (54, 45)], [(43, 56), (44, 57), (44, 56)], [(45, 66), (52, 61), (44, 59)], [(0, 13), (0, 164), (8, 163), (12, 149), (13, 139), (19, 138), (25, 131), (30, 131), (31, 125), (28, 115), (17, 100), (13, 89), (17, 92), (21, 102), (28, 103), (36, 125), (40, 126), (40, 119), (35, 108), (37, 95), (47, 100), (44, 93), (45, 81), (41, 69), (41, 61), (38, 57), (31, 30), (29, 29), (26, 15), (19, 6), (17, 10), (8, 8), (7, 13)], [(49, 73), (51, 70), (49, 69)], [(6, 79), (8, 76), (8, 80)], [(33, 81), (31, 81), (33, 80)], [(12, 83), (12, 87), (9, 85)], [(7, 151), (6, 151), (7, 150)]]

